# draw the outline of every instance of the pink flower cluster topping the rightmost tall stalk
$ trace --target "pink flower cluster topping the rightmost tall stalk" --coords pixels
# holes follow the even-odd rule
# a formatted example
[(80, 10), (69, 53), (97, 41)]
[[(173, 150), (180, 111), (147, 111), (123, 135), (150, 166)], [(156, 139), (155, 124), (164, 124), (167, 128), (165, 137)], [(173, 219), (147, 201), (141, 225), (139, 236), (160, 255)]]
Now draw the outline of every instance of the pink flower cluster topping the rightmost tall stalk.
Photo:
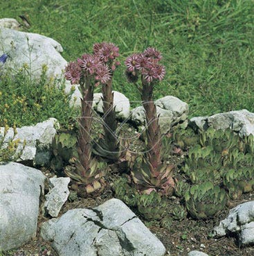
[(143, 53), (132, 54), (125, 60), (127, 77), (130, 81), (136, 82), (138, 74), (141, 74), (147, 83), (161, 81), (165, 76), (165, 67), (158, 64), (161, 58), (161, 53), (154, 48), (147, 48)]

